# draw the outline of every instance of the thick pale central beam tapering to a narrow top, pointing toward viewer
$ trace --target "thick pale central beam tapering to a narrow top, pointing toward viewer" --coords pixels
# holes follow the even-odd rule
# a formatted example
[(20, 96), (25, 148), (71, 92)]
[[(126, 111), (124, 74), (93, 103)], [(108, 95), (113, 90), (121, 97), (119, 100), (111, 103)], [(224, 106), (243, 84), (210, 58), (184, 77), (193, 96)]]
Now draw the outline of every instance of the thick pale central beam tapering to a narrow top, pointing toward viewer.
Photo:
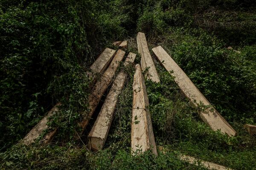
[(133, 83), (133, 109), (131, 120), (131, 150), (132, 154), (140, 154), (151, 149), (157, 155), (153, 127), (148, 110), (148, 95), (144, 77), (139, 64), (135, 66)]

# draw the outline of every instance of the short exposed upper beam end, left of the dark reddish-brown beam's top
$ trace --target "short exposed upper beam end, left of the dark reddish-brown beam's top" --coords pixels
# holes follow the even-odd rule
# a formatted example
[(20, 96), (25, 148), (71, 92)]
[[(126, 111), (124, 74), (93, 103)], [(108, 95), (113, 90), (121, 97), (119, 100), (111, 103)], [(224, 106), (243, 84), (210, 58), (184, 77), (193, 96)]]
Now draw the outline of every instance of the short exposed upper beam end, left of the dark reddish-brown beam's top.
[(102, 71), (108, 67), (115, 54), (115, 50), (105, 48), (105, 50), (99, 55), (96, 61), (90, 66), (90, 69), (94, 73), (102, 73)]

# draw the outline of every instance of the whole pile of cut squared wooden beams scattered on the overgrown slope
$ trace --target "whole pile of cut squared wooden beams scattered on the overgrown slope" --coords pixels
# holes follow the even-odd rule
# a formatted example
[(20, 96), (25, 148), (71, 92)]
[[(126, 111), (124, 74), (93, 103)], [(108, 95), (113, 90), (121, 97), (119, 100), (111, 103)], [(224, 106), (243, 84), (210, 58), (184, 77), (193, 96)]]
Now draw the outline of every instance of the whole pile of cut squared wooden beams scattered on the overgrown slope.
[[(81, 134), (87, 127), (90, 119), (92, 119), (93, 113), (96, 107), (99, 105), (102, 96), (107, 91), (107, 88), (112, 83), (112, 87), (108, 92), (104, 104), (99, 112), (99, 115), (94, 122), (90, 133), (87, 136), (87, 146), (90, 150), (101, 150), (104, 147), (108, 132), (111, 127), (111, 122), (115, 113), (116, 104), (118, 102), (118, 96), (125, 86), (127, 73), (120, 71), (116, 74), (116, 70), (125, 57), (125, 48), (127, 48), (127, 41), (116, 41), (113, 45), (119, 46), (118, 51), (105, 48), (102, 54), (95, 60), (90, 66), (91, 72), (87, 74), (93, 79), (92, 91), (89, 96), (89, 108), (90, 112), (80, 122), (82, 129)], [(151, 150), (157, 156), (157, 147), (154, 139), (154, 132), (151, 122), (150, 111), (148, 109), (149, 101), (145, 86), (145, 79), (142, 74), (145, 71), (145, 78), (155, 83), (160, 82), (160, 78), (157, 74), (157, 69), (154, 65), (154, 59), (152, 58), (148, 49), (148, 43), (144, 33), (139, 32), (137, 34), (137, 47), (138, 53), (141, 55), (140, 64), (135, 65), (135, 74), (133, 82), (133, 107), (131, 109), (131, 153), (137, 155)], [(123, 50), (122, 50), (123, 49)], [(161, 47), (152, 48), (152, 51), (166, 70), (175, 77), (175, 82), (179, 86), (183, 94), (192, 102), (196, 107), (198, 105), (207, 105), (207, 109), (199, 111), (198, 114), (202, 120), (209, 125), (209, 127), (216, 131), (220, 130), (222, 133), (228, 136), (235, 136), (236, 131), (229, 125), (229, 123), (221, 116), (218, 111), (210, 104), (205, 96), (198, 90), (189, 77), (183, 72), (183, 70), (177, 65), (172, 57)], [(125, 59), (124, 66), (127, 67), (134, 63), (136, 54), (129, 52)], [(100, 73), (101, 77), (95, 79), (95, 74)], [(115, 77), (115, 79), (114, 79)], [(54, 115), (58, 110), (61, 103), (57, 103), (47, 115), (24, 137), (22, 140), (25, 144), (31, 144), (35, 142), (38, 136), (46, 130), (48, 118)], [(245, 125), (248, 132), (251, 134), (256, 133), (256, 126)], [(55, 133), (57, 133), (58, 127), (53, 127), (54, 130), (50, 131), (43, 139), (44, 143), (48, 143), (52, 140)], [(80, 134), (80, 135), (81, 135)], [(159, 149), (160, 150), (160, 149)], [(183, 161), (188, 161), (191, 164), (198, 164), (197, 159), (191, 156), (180, 156)], [(207, 161), (201, 161), (204, 167), (209, 169), (216, 168), (219, 170), (228, 169), (218, 164), (214, 164)]]

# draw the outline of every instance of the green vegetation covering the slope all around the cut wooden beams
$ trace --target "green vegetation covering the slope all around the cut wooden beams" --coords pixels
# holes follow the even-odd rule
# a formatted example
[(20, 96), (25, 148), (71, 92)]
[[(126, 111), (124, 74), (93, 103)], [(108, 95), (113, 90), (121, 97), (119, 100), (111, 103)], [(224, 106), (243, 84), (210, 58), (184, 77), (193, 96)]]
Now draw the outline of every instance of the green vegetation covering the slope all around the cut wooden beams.
[[(126, 54), (137, 53), (137, 31), (145, 32), (149, 48), (161, 45), (173, 57), (237, 136), (202, 122), (155, 60), (161, 83), (146, 81), (146, 87), (156, 144), (166, 153), (130, 154), (132, 67), (124, 70), (128, 80), (105, 149), (87, 150), (89, 131), (83, 142), (74, 137), (88, 112), (91, 80), (85, 72), (105, 47), (116, 48), (115, 40), (128, 40)], [(243, 125), (256, 124), (255, 42), (254, 0), (2, 0), (0, 169), (204, 169), (180, 161), (182, 153), (253, 170), (256, 139)], [(52, 144), (19, 144), (58, 101)]]

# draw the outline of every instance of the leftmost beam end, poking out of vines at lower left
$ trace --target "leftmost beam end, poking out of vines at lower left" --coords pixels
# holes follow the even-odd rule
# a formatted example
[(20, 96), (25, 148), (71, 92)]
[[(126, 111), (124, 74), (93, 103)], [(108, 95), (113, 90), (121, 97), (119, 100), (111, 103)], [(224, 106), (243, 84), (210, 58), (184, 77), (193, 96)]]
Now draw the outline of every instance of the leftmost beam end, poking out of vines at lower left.
[(22, 139), (22, 143), (24, 144), (31, 144), (35, 142), (35, 140), (43, 133), (44, 130), (47, 129), (47, 122), (50, 116), (52, 116), (56, 111), (58, 111), (58, 106), (60, 106), (61, 103), (58, 102), (48, 113), (47, 115), (41, 119), (40, 122), (38, 122), (35, 127), (33, 127), (32, 130), (29, 131), (29, 133)]

